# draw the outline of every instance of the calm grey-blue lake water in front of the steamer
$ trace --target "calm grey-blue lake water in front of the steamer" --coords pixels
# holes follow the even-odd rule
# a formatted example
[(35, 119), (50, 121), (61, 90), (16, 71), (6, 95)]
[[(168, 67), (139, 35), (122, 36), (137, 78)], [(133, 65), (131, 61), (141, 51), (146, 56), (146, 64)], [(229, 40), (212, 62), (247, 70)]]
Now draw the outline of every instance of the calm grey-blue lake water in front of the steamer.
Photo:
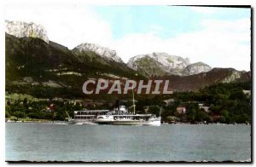
[(5, 124), (7, 161), (245, 161), (251, 126)]

